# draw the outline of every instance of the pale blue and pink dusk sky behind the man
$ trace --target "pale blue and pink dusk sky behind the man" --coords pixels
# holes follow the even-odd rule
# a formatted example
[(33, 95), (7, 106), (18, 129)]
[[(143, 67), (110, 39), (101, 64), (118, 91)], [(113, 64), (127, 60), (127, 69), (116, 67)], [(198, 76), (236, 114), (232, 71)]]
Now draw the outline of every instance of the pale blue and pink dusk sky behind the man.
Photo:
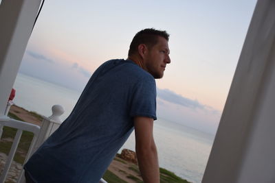
[(19, 72), (83, 90), (100, 64), (127, 58), (141, 29), (170, 34), (157, 115), (214, 134), (256, 0), (47, 0)]

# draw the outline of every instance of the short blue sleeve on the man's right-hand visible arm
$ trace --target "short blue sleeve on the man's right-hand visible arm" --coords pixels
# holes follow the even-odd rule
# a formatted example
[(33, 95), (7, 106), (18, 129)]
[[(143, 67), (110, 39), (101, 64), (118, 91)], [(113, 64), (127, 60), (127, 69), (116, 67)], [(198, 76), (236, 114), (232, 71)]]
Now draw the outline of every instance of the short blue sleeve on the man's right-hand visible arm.
[(153, 77), (140, 80), (133, 90), (130, 116), (149, 117), (156, 120), (156, 95)]

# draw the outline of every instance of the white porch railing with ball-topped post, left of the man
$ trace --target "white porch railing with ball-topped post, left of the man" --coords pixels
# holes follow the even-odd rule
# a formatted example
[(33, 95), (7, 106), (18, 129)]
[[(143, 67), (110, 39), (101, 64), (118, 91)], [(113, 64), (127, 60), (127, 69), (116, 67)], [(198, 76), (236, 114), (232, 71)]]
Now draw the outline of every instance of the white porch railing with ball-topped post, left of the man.
[[(12, 104), (10, 106), (12, 106)], [(8, 114), (8, 111), (10, 110), (10, 106), (7, 106), (5, 114)], [(2, 136), (3, 126), (14, 127), (18, 129), (17, 134), (14, 137), (14, 142), (12, 143), (12, 147), (10, 149), (10, 154), (8, 155), (8, 158), (5, 162), (4, 170), (1, 173), (0, 183), (5, 182), (5, 178), (8, 175), (8, 171), (10, 169), (10, 165), (12, 164), (12, 160), (14, 158), (15, 151), (17, 150), (23, 130), (34, 133), (34, 138), (32, 139), (32, 143), (29, 147), (28, 154), (25, 157), (25, 162), (27, 162), (28, 158), (30, 158), (30, 156), (34, 153), (34, 151), (36, 151), (36, 149), (38, 149), (39, 146), (61, 125), (62, 121), (60, 119), (60, 116), (63, 113), (64, 113), (64, 109), (62, 106), (59, 106), (59, 105), (52, 106), (52, 116), (43, 117), (41, 127), (31, 123), (10, 119), (7, 116), (0, 117), (0, 138)], [(20, 182), (20, 183), (25, 182), (25, 177), (23, 176), (23, 173), (24, 171), (22, 170), (17, 182)], [(104, 179), (100, 179), (99, 183), (107, 183), (107, 182)]]

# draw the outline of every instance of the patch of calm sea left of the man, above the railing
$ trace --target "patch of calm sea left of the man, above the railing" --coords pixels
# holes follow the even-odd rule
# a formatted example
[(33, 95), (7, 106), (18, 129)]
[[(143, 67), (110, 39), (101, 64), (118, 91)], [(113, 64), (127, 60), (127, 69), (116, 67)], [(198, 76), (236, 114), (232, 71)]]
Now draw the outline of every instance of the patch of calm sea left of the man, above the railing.
[(62, 121), (72, 112), (81, 94), (21, 73), (18, 73), (13, 88), (16, 90), (14, 103), (26, 110), (50, 117), (52, 106), (56, 104), (63, 106), (65, 112), (61, 115)]

